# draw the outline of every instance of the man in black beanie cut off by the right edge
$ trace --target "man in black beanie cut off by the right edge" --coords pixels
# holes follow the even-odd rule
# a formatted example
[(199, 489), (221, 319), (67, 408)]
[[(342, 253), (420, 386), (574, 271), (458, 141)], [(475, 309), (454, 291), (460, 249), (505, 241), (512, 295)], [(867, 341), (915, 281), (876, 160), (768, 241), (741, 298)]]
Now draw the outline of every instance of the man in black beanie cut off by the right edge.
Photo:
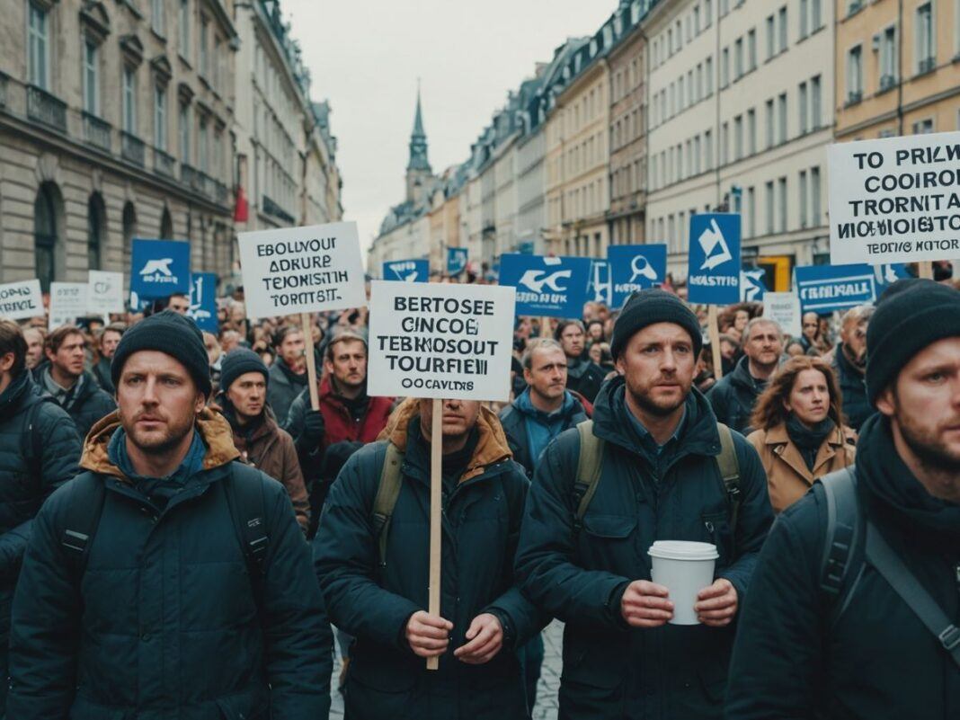
[(856, 466), (777, 521), (728, 717), (960, 717), (960, 293), (913, 280), (867, 328)]

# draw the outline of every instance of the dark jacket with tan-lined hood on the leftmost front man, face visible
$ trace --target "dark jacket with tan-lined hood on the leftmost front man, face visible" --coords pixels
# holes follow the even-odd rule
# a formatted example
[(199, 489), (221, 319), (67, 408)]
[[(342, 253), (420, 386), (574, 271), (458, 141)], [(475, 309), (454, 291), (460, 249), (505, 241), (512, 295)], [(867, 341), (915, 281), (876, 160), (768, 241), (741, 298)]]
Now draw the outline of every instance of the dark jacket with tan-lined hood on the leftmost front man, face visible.
[[(250, 472), (234, 462), (227, 420), (204, 410), (201, 469), (181, 488), (151, 481), (169, 492), (162, 506), (110, 459), (118, 426), (112, 415), (93, 428), (86, 472), (36, 517), (13, 603), (10, 717), (325, 718), (330, 631), (283, 487), (252, 475), (269, 537), (257, 591), (225, 490)], [(61, 540), (68, 508), (90, 503), (94, 482), (106, 496), (78, 583)]]

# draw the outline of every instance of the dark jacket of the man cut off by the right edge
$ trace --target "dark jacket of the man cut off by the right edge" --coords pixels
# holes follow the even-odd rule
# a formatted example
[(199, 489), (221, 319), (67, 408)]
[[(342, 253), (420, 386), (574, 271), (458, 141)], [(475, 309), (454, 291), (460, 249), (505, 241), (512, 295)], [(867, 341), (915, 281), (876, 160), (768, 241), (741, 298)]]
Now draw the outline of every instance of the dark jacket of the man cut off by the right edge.
[[(862, 512), (954, 623), (960, 618), (960, 507), (937, 500), (874, 415), (856, 452)], [(756, 564), (731, 665), (731, 720), (948, 720), (960, 668), (871, 564), (833, 624), (820, 589), (826, 503), (808, 492), (777, 519)]]

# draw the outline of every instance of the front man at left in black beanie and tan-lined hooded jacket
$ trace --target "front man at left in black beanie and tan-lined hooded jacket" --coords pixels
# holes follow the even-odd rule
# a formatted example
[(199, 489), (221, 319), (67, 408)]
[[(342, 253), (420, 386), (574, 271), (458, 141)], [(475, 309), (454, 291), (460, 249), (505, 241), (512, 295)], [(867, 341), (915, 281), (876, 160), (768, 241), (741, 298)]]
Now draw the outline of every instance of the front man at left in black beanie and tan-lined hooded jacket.
[(13, 598), (12, 718), (329, 711), (331, 635), (283, 487), (206, 407), (206, 350), (170, 310), (113, 356), (117, 411), (34, 523)]

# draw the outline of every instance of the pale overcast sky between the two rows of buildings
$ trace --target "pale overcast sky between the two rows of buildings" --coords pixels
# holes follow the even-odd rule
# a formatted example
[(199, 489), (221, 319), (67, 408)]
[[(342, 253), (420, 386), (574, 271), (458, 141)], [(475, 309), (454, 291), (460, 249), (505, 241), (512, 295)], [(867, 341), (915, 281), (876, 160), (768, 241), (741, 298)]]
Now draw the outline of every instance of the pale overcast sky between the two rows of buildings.
[(507, 91), (616, 0), (281, 0), (339, 142), (344, 217), (367, 248), (404, 198), (417, 79), (434, 173), (467, 159)]

